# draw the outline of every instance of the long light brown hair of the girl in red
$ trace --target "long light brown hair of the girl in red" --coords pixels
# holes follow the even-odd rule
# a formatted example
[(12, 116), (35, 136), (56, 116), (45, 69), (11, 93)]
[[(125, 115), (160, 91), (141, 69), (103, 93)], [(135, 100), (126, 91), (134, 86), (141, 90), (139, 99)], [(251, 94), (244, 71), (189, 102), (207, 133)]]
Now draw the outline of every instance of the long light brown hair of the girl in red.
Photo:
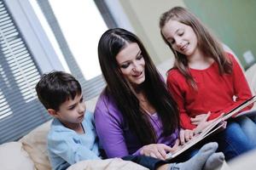
[[(189, 12), (188, 9), (183, 7), (174, 7), (166, 11), (160, 16), (160, 30), (169, 20), (177, 20), (178, 22), (190, 26), (198, 39), (198, 47), (201, 49), (203, 54), (212, 57), (218, 64), (218, 71), (222, 75), (224, 73), (230, 74), (232, 72), (232, 63), (230, 59), (224, 54), (224, 49), (222, 44), (218, 41), (216, 37), (212, 36), (212, 33), (207, 30), (201, 21)], [(166, 40), (166, 37), (160, 32), (162, 38), (166, 44), (172, 49), (175, 56), (174, 68), (177, 68), (183, 76), (190, 82), (193, 88), (196, 87), (195, 80), (189, 73), (188, 59), (185, 55), (178, 53), (172, 48), (172, 45)]]

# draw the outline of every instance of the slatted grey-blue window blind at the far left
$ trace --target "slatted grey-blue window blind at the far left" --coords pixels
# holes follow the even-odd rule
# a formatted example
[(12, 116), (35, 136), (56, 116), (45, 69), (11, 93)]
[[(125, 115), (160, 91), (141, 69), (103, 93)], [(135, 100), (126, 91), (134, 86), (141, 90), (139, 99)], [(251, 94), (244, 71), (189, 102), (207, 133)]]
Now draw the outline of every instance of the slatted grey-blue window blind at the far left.
[(20, 139), (50, 116), (38, 101), (38, 65), (0, 0), (0, 144)]

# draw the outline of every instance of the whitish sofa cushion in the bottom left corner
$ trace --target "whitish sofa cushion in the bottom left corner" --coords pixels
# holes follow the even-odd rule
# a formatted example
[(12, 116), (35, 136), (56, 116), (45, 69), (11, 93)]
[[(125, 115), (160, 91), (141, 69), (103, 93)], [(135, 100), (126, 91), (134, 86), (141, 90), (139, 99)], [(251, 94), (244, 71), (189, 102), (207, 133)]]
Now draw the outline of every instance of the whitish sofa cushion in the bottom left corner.
[(0, 145), (0, 165), (4, 170), (33, 170), (34, 163), (20, 142), (9, 142)]

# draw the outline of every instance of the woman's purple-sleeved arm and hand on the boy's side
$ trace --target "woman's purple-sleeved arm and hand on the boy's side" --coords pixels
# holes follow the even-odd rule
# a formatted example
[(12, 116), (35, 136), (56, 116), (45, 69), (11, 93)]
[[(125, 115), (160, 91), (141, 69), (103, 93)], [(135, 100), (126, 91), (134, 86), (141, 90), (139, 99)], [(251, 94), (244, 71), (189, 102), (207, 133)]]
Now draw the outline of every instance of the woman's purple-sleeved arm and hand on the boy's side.
[[(116, 111), (100, 103), (96, 105), (95, 110), (96, 132), (109, 158), (129, 155), (125, 143), (123, 121)], [(172, 151), (172, 148), (166, 144), (148, 144), (131, 153), (131, 155), (154, 156), (165, 159), (166, 152), (169, 151)]]

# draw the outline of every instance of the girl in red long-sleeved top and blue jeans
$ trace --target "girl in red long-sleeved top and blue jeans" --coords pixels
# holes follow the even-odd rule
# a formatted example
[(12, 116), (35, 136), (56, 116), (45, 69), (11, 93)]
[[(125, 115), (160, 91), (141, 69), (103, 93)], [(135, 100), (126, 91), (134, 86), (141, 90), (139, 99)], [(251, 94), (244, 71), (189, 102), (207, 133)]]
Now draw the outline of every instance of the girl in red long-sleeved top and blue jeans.
[[(175, 55), (167, 86), (177, 102), (183, 128), (199, 131), (252, 97), (234, 56), (225, 53), (221, 43), (186, 8), (172, 8), (162, 14), (160, 31)], [(255, 135), (255, 124), (242, 117), (230, 120), (214, 140), (229, 160), (255, 148)]]

